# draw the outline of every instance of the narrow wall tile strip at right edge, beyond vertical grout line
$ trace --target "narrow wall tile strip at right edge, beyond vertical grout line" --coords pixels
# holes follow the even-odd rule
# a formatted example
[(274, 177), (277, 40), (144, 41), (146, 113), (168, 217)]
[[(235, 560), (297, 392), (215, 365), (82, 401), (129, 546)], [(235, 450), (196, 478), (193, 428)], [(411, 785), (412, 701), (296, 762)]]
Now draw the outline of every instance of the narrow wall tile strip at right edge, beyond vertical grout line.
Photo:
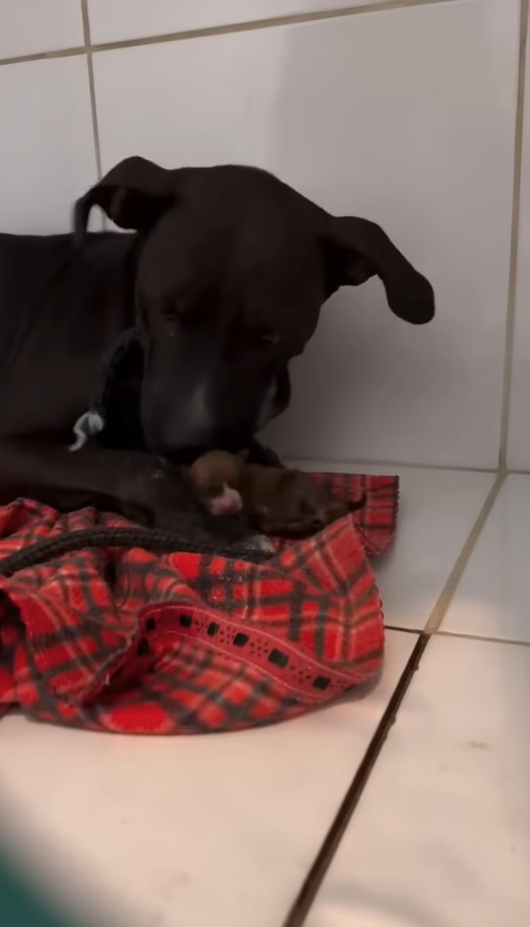
[(508, 466), (511, 470), (530, 470), (530, 54), (526, 59), (524, 89), (523, 159), (515, 326), (513, 333), (513, 368), (508, 435)]

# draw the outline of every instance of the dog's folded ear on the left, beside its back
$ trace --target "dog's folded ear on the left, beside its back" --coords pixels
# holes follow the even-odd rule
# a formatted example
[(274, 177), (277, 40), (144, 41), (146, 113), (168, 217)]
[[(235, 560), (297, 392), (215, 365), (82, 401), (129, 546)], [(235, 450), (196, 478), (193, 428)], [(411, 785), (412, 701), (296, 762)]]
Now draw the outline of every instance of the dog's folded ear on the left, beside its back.
[(90, 210), (99, 206), (123, 229), (146, 229), (175, 197), (175, 173), (145, 158), (126, 158), (77, 200), (73, 233), (82, 244)]

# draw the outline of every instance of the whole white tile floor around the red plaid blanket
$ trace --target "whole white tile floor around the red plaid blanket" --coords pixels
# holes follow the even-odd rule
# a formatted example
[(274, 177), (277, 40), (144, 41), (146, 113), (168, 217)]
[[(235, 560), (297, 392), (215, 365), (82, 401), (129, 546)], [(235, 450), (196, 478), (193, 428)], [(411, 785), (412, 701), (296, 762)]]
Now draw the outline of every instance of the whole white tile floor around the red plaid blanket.
[[(20, 855), (59, 895), (81, 897), (89, 920), (285, 922), (493, 485), (469, 472), (401, 476), (396, 544), (377, 566), (394, 630), (364, 697), (205, 738), (1, 722), (2, 829), (18, 829)], [(509, 476), (307, 927), (530, 923), (529, 551), (530, 476)]]

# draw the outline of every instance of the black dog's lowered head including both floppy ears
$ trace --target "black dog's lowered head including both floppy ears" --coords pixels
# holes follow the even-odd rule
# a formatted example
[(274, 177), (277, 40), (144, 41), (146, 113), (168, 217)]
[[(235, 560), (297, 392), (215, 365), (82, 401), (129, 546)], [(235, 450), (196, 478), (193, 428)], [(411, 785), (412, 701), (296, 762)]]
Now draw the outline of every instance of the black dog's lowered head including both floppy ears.
[(378, 225), (330, 216), (265, 171), (130, 158), (78, 200), (80, 240), (95, 205), (138, 233), (141, 412), (156, 451), (245, 446), (288, 404), (287, 364), (340, 286), (376, 274), (396, 315), (433, 318), (432, 286)]

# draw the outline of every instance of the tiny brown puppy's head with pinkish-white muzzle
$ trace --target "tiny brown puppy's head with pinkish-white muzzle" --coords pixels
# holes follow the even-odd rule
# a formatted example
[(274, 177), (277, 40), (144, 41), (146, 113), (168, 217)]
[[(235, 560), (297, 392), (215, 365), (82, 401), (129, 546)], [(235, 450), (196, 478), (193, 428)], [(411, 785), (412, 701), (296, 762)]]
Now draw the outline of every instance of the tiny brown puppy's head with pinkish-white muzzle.
[(202, 454), (189, 467), (194, 492), (213, 515), (234, 515), (242, 510), (239, 494), (242, 459), (226, 451)]

